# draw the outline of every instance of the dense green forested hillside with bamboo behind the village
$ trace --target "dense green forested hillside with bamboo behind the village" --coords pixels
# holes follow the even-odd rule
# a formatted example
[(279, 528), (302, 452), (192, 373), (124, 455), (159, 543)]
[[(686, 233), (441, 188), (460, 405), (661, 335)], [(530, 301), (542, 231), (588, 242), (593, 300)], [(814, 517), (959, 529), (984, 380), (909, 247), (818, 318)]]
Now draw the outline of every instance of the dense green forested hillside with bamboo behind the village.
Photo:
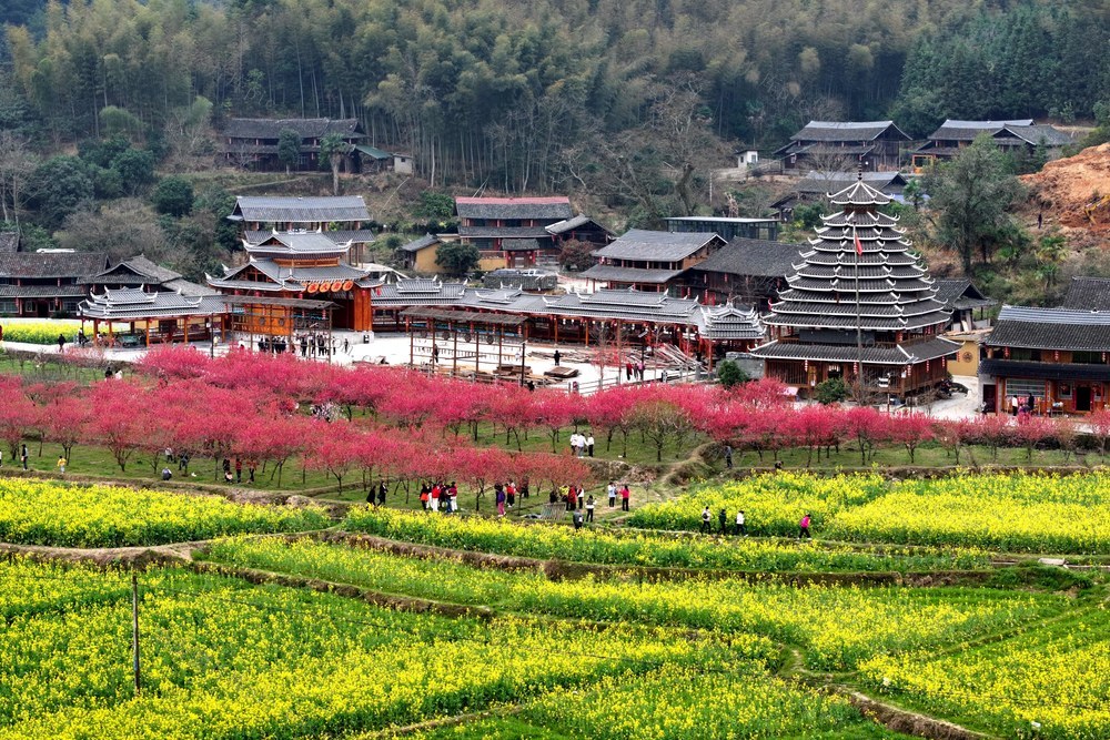
[(1108, 31), (1093, 0), (51, 2), (7, 30), (0, 128), (188, 136), (203, 98), (216, 124), (357, 116), (434, 184), (544, 191), (809, 118), (1089, 118)]

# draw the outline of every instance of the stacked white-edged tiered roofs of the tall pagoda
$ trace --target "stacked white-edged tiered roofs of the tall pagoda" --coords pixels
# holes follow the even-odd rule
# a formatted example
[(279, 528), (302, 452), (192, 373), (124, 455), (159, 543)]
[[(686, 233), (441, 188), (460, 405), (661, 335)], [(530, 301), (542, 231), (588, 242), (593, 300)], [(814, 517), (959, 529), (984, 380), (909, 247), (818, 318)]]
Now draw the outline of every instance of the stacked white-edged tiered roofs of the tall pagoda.
[[(865, 345), (888, 345), (908, 362), (955, 352), (955, 344), (934, 336), (947, 324), (951, 308), (938, 300), (935, 281), (911, 251), (898, 220), (879, 211), (890, 197), (860, 179), (830, 200), (840, 210), (821, 216), (816, 237), (787, 278), (789, 287), (764, 318), (778, 327), (779, 339), (754, 354), (824, 358), (828, 353), (820, 346), (855, 344), (857, 327), (866, 335)], [(897, 349), (922, 342), (930, 346)], [(807, 354), (807, 346), (813, 352)]]

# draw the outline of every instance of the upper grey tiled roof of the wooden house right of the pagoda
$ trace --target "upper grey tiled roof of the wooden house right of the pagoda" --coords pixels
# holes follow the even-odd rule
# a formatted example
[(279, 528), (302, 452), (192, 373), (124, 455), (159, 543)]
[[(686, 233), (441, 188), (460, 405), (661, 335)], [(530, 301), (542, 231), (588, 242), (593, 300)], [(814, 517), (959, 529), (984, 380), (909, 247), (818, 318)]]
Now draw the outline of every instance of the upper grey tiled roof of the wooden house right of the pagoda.
[(985, 344), (1110, 352), (1110, 312), (1002, 306)]

